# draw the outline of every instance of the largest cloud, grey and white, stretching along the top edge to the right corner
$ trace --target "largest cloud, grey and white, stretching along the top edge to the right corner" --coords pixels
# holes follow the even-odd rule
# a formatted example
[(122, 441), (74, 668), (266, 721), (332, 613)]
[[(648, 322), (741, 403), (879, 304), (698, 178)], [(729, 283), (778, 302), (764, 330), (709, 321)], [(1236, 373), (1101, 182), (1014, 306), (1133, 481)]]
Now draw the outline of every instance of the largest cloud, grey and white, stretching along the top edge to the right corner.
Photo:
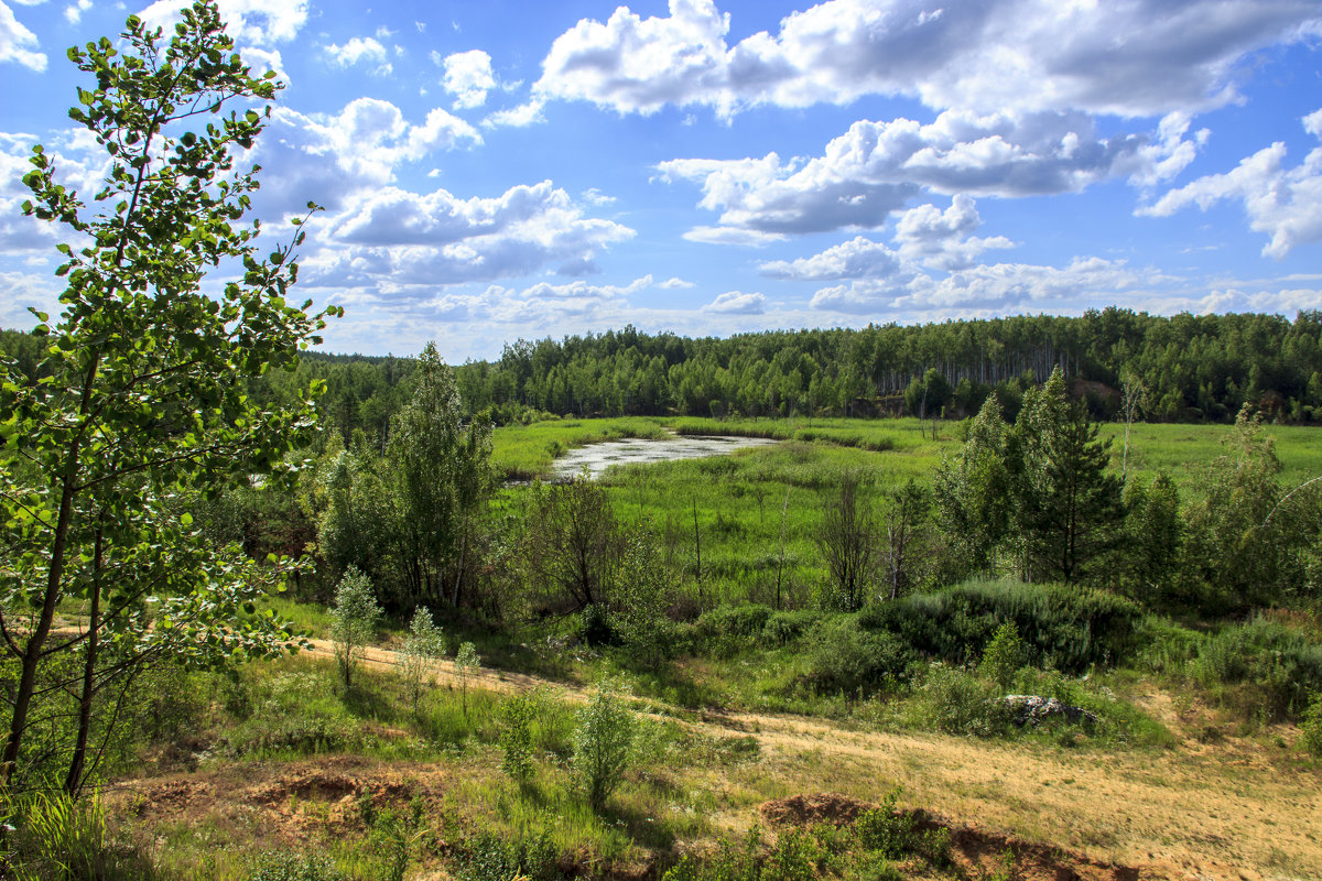
[(1153, 116), (1233, 100), (1247, 53), (1319, 30), (1311, 0), (828, 0), (730, 45), (714, 0), (670, 0), (668, 16), (620, 7), (579, 21), (553, 42), (535, 92), (621, 114), (879, 94)]

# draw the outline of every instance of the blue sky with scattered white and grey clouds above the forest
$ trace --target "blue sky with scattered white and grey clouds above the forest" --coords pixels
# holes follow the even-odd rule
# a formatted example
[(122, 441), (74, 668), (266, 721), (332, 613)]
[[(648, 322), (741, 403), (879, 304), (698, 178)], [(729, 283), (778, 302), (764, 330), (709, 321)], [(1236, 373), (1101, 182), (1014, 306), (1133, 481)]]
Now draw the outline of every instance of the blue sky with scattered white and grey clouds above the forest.
[[(0, 326), (58, 312), (32, 145), (103, 166), (66, 49), (176, 7), (0, 0)], [(329, 351), (1322, 308), (1318, 0), (219, 7)]]

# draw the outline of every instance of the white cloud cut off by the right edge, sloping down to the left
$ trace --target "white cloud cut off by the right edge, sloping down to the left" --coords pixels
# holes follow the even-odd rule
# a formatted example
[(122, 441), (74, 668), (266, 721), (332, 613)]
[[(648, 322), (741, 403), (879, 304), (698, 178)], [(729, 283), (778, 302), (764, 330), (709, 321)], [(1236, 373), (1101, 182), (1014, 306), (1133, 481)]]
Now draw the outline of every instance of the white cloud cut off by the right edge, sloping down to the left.
[[(1322, 140), (1322, 110), (1302, 119), (1303, 128)], [(1294, 168), (1285, 168), (1285, 144), (1277, 141), (1240, 160), (1224, 174), (1207, 174), (1170, 190), (1154, 205), (1136, 214), (1170, 217), (1196, 205), (1206, 211), (1222, 199), (1239, 201), (1249, 229), (1265, 232), (1265, 256), (1284, 258), (1294, 247), (1322, 242), (1322, 147), (1314, 148)]]

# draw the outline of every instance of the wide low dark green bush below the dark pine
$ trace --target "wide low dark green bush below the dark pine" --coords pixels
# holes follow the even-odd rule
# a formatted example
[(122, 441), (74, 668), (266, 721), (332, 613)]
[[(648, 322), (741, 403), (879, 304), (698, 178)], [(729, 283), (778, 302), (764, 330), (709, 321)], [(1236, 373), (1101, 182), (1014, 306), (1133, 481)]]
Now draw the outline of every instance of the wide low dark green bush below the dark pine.
[(981, 656), (997, 627), (1013, 621), (1030, 660), (1083, 672), (1129, 658), (1141, 617), (1138, 605), (1105, 590), (970, 581), (870, 606), (859, 623), (894, 633), (929, 656), (964, 663)]

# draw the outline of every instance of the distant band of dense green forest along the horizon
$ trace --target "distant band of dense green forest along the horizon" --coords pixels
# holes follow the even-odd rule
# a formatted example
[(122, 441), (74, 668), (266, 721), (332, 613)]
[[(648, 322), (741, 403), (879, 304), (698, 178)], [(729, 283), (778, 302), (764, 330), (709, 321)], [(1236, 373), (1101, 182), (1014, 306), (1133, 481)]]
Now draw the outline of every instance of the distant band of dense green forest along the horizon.
[[(442, 349), (444, 341), (440, 341)], [(0, 332), (32, 374), (41, 343)], [(268, 374), (256, 396), (292, 399), (324, 379), (327, 427), (385, 440), (412, 394), (411, 357), (309, 354)], [(1322, 310), (1162, 317), (1107, 308), (1077, 318), (1022, 316), (861, 330), (775, 330), (690, 339), (632, 326), (563, 339), (520, 339), (497, 361), (453, 367), (469, 412), (497, 424), (554, 416), (690, 415), (965, 417), (997, 394), (1014, 417), (1025, 388), (1059, 366), (1095, 419), (1121, 390), (1142, 416), (1232, 421), (1245, 403), (1268, 420), (1322, 421)]]

